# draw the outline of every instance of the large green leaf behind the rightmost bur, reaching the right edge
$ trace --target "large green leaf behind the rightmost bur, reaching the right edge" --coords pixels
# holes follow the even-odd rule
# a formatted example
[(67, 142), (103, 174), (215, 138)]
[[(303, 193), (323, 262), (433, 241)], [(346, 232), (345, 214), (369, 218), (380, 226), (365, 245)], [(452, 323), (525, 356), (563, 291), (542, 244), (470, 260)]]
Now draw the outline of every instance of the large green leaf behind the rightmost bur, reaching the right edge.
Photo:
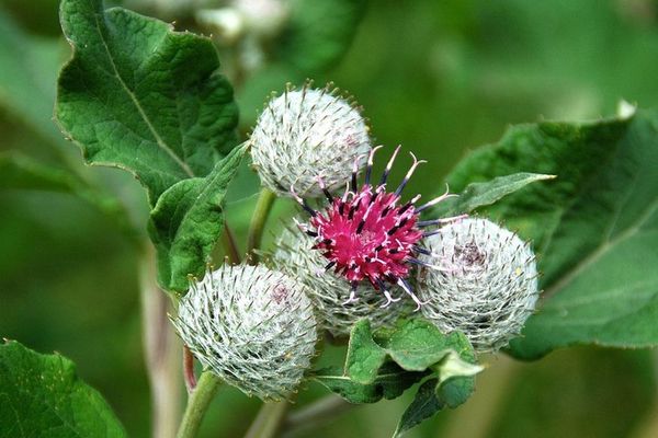
[(468, 183), (555, 174), (487, 209), (532, 239), (545, 289), (511, 351), (532, 359), (574, 344), (658, 344), (658, 115), (512, 128), (450, 175)]

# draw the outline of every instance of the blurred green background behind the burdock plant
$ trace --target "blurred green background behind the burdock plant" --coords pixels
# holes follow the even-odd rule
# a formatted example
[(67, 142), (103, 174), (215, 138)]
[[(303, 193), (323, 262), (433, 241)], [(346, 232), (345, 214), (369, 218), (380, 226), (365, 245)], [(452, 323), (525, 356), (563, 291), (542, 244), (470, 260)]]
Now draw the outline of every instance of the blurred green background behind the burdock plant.
[[(69, 163), (110, 186), (144, 224), (139, 185), (120, 171), (84, 168), (52, 120), (58, 68), (69, 56), (57, 7), (55, 0), (0, 2), (0, 151)], [(185, 20), (178, 24), (188, 25), (193, 28)], [(658, 106), (658, 1), (372, 0), (344, 57), (287, 73), (265, 66), (237, 90), (243, 131), (266, 93), (286, 80), (334, 81), (363, 105), (377, 143), (401, 143), (429, 160), (411, 183), (429, 196), (464, 153), (496, 141), (510, 124), (595, 119), (613, 115), (621, 99)], [(257, 185), (243, 169), (231, 196), (229, 221), (242, 241)], [(291, 211), (284, 200), (275, 216)], [(270, 223), (279, 227), (275, 218)], [(129, 435), (146, 437), (138, 264), (116, 223), (79, 198), (0, 191), (0, 336), (71, 358)], [(330, 354), (338, 359), (342, 350)], [(560, 350), (534, 364), (485, 358), (489, 369), (475, 396), (408, 436), (656, 437), (655, 359), (655, 351), (598, 348)], [(298, 404), (320, 394), (311, 385)], [(409, 395), (294, 436), (389, 436)], [(222, 389), (204, 436), (241, 436), (259, 405)]]

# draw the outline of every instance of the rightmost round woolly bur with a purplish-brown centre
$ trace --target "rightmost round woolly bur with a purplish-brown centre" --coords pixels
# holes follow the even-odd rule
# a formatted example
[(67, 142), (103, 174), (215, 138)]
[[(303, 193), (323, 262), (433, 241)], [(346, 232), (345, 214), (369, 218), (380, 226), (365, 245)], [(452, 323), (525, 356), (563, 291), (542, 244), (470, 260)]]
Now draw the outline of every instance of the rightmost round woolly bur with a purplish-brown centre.
[[(486, 219), (464, 219), (426, 239), (418, 272), (423, 316), (443, 332), (461, 331), (479, 351), (517, 336), (537, 300), (530, 244)], [(430, 266), (432, 265), (432, 266)]]

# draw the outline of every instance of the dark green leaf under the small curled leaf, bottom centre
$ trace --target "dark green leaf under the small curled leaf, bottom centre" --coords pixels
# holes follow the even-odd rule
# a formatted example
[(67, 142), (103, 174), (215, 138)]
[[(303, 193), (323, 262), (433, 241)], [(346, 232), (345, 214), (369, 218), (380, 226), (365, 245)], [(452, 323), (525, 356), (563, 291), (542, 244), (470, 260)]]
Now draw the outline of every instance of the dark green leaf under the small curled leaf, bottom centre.
[(350, 403), (376, 403), (382, 399), (400, 396), (424, 376), (427, 372), (405, 371), (395, 364), (386, 364), (367, 384), (343, 376), (341, 369), (336, 367), (316, 371), (313, 379)]

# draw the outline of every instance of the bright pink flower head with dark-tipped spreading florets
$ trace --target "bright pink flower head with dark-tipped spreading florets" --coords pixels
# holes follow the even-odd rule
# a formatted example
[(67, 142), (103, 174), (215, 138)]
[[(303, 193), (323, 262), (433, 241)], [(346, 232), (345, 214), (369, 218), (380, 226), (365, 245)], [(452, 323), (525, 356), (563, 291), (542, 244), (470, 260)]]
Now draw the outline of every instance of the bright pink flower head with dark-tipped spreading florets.
[(300, 224), (300, 227), (315, 238), (316, 243), (313, 249), (320, 251), (328, 260), (326, 269), (333, 268), (336, 274), (343, 276), (352, 286), (350, 298), (345, 303), (356, 300), (359, 283), (367, 280), (386, 296), (387, 302), (383, 307), (399, 301), (399, 298), (390, 295), (388, 284), (400, 286), (413, 299), (418, 310), (423, 302), (413, 293), (407, 277), (412, 264), (426, 265), (417, 258), (418, 253), (427, 253), (419, 243), (423, 237), (434, 233), (423, 232), (420, 229), (456, 219), (419, 221), (420, 212), (455, 195), (449, 195), (446, 192), (420, 207), (416, 207), (420, 195), (402, 203), (400, 197), (402, 189), (416, 168), (424, 163), (417, 160), (412, 153), (411, 169), (395, 192), (387, 192), (386, 180), (400, 147), (393, 153), (378, 184), (372, 185), (373, 157), (379, 148), (374, 148), (370, 152), (365, 181), (361, 187), (358, 184), (361, 157), (354, 161), (351, 185), (345, 188), (342, 197), (332, 196), (322, 180), (318, 177), (320, 188), (329, 201), (324, 210), (314, 210), (305, 199), (296, 195), (294, 187), (291, 187), (291, 193), (310, 215), (309, 224)]

